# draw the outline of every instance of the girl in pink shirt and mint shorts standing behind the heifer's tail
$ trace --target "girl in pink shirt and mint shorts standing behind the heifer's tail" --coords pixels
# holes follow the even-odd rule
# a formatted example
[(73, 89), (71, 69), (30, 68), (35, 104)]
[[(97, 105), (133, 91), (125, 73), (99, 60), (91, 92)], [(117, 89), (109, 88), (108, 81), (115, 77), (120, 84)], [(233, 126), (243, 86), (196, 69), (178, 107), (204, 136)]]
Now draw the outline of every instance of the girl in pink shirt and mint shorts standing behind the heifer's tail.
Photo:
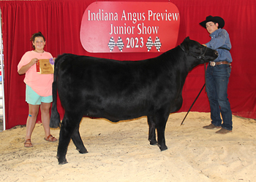
[(18, 74), (26, 74), (26, 102), (29, 103), (29, 116), (26, 121), (25, 147), (31, 147), (31, 134), (34, 130), (39, 107), (41, 108), (42, 125), (45, 130), (45, 141), (57, 141), (50, 135), (50, 103), (52, 98), (53, 74), (37, 74), (39, 59), (50, 59), (53, 56), (44, 51), (45, 37), (41, 32), (31, 36), (34, 50), (26, 52), (18, 63)]

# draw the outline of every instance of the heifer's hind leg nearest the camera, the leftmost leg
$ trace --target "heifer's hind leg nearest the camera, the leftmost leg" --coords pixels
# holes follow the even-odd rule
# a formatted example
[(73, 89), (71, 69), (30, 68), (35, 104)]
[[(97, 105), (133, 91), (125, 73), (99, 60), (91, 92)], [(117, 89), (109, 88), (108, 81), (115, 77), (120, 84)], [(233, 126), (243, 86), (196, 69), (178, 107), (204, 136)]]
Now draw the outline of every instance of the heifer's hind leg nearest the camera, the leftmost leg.
[(67, 163), (67, 147), (69, 146), (70, 139), (81, 119), (82, 116), (78, 116), (77, 114), (67, 114), (67, 111), (64, 114), (64, 118), (61, 122), (61, 130), (59, 132), (59, 146), (57, 151), (59, 165)]

